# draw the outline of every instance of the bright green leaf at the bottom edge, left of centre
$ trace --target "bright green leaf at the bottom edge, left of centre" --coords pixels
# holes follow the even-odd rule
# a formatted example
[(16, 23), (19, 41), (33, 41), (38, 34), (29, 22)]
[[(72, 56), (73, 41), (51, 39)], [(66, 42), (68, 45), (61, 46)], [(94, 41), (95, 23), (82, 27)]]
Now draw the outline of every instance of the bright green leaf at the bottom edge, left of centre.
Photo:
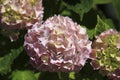
[(15, 71), (12, 73), (12, 80), (37, 80), (32, 71)]

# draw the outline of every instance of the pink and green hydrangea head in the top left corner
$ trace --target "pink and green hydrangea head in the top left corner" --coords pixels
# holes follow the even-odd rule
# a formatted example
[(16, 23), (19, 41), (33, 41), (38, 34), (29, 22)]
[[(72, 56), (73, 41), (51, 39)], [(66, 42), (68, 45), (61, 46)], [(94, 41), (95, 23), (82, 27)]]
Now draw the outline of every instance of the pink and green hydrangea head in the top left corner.
[(3, 28), (22, 29), (42, 21), (42, 0), (1, 0), (0, 17)]

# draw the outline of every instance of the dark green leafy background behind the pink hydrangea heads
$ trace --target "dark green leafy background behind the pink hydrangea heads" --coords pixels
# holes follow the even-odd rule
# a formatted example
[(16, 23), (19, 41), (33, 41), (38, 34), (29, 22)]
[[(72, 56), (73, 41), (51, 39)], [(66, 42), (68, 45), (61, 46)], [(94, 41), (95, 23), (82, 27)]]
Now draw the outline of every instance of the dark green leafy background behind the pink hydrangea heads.
[[(114, 28), (120, 31), (120, 0), (43, 0), (44, 20), (53, 15), (69, 16), (87, 29), (90, 40)], [(0, 29), (0, 80), (109, 80), (94, 71), (87, 61), (79, 73), (40, 72), (29, 63), (23, 44), (27, 30), (17, 31), (11, 42)]]

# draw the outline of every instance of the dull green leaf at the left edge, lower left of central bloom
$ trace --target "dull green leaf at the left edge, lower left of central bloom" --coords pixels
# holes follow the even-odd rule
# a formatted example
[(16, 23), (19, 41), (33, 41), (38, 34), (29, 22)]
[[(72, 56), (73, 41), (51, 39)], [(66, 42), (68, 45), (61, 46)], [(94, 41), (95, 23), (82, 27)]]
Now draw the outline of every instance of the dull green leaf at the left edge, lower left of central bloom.
[(0, 57), (0, 74), (6, 74), (11, 71), (11, 64), (23, 51), (23, 47), (12, 49), (11, 52), (4, 57)]

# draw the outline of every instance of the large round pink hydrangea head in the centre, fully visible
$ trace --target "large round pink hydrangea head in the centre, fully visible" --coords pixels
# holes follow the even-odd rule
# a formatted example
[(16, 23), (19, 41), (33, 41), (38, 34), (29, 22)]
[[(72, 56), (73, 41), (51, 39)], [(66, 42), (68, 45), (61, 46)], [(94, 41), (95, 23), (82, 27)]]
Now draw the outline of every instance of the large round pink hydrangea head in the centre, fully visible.
[(24, 46), (32, 65), (40, 71), (78, 72), (91, 53), (86, 29), (60, 15), (29, 29)]

